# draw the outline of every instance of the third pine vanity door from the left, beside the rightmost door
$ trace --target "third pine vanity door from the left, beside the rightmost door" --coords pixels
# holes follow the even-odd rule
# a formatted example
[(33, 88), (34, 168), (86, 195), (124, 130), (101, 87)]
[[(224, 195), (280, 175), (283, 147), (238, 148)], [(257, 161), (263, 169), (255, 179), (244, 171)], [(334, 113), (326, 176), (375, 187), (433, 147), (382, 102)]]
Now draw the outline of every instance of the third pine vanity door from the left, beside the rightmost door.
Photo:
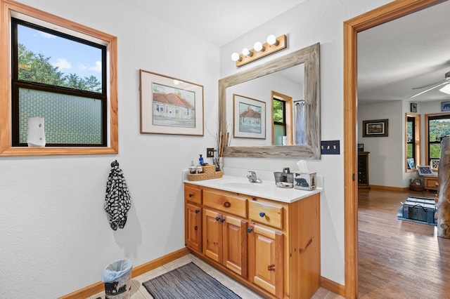
[(223, 264), (229, 270), (247, 277), (247, 221), (224, 215)]

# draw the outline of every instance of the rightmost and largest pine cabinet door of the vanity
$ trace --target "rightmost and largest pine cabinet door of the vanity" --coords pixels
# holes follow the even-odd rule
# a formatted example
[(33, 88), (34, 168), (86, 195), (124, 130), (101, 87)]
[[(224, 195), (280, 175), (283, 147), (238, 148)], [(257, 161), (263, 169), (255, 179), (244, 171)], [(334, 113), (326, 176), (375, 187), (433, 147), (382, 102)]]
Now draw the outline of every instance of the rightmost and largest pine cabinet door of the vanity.
[(248, 231), (248, 276), (253, 284), (283, 297), (283, 234), (255, 223)]

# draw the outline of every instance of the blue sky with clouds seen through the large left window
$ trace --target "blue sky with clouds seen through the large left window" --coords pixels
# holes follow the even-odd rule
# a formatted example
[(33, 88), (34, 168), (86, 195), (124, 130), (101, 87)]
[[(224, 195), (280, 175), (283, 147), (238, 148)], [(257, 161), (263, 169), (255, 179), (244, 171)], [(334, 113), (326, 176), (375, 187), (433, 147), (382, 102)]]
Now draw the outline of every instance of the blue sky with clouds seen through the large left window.
[(101, 82), (101, 49), (18, 25), (18, 42), (35, 54), (50, 57), (53, 67), (65, 75), (96, 77)]

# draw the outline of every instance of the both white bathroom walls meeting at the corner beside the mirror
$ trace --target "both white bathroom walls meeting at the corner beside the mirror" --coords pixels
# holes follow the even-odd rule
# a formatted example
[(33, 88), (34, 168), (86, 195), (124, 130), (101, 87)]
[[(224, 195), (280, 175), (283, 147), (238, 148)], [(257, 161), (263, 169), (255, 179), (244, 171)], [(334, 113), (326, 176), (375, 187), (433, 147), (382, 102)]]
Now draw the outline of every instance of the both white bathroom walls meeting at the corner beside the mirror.
[[(120, 154), (1, 157), (2, 297), (26, 298), (32, 289), (41, 298), (55, 298), (99, 281), (105, 265), (118, 258), (141, 265), (184, 247), (180, 171), (215, 144), (217, 80), (240, 71), (230, 60), (231, 53), (268, 34), (287, 34), (288, 48), (246, 67), (321, 43), (321, 139), (341, 140), (341, 152), (308, 164), (325, 178), (321, 274), (344, 284), (342, 22), (388, 0), (307, 0), (220, 52), (121, 1), (20, 2), (118, 37)], [(189, 46), (179, 51), (180, 44)], [(205, 86), (203, 138), (139, 133), (139, 69)], [(103, 211), (105, 182), (114, 159), (120, 162), (133, 201), (127, 225), (117, 232), (109, 228)], [(227, 167), (266, 171), (295, 169), (296, 162), (224, 161)]]

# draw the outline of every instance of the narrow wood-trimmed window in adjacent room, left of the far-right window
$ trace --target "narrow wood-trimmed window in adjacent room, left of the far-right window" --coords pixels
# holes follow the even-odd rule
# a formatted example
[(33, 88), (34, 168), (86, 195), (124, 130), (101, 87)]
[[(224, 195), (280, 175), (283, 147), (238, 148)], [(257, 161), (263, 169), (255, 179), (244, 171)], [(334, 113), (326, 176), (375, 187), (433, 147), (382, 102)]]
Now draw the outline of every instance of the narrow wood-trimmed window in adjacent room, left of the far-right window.
[(420, 165), (420, 115), (406, 114), (406, 172)]

